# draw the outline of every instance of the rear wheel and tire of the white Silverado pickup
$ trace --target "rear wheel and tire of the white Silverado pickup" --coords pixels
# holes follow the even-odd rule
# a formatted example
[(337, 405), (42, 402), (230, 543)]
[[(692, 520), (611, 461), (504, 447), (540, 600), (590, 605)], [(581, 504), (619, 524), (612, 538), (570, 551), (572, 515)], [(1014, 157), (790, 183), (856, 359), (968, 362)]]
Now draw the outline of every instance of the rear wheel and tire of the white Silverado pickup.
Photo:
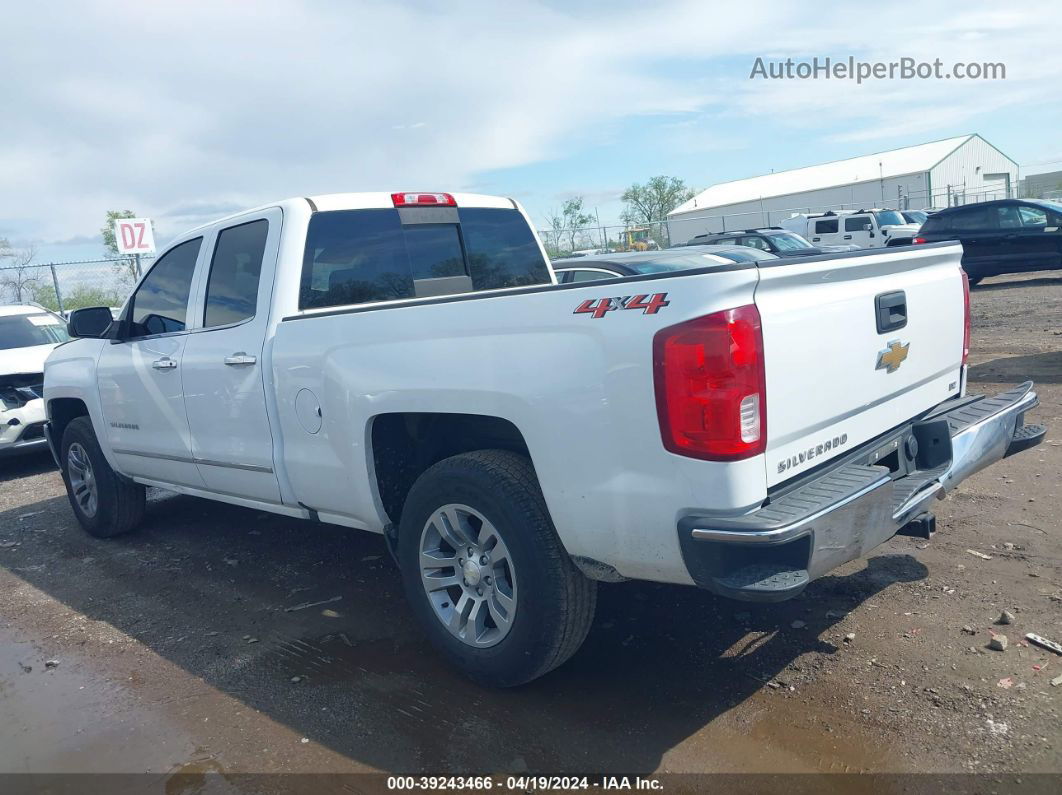
[[(461, 551), (444, 538), (444, 515), (456, 516), (463, 529)], [(448, 537), (457, 538), (453, 522), (448, 524)], [(478, 545), (472, 558), (465, 557), (468, 539)], [(431, 575), (438, 580), (422, 573), (422, 548), (440, 560)], [(457, 564), (462, 558), (464, 566)], [(425, 471), (402, 508), (398, 565), (406, 595), (432, 644), (481, 685), (515, 687), (548, 673), (579, 650), (594, 620), (597, 583), (571, 563), (531, 462), (516, 453), (478, 450)], [(440, 587), (446, 583), (451, 584)], [(477, 584), (485, 594), (478, 607)], [(435, 589), (431, 595), (429, 587)], [(511, 611), (501, 609), (504, 597), (511, 599)], [(449, 626), (459, 605), (468, 603), (459, 636)]]

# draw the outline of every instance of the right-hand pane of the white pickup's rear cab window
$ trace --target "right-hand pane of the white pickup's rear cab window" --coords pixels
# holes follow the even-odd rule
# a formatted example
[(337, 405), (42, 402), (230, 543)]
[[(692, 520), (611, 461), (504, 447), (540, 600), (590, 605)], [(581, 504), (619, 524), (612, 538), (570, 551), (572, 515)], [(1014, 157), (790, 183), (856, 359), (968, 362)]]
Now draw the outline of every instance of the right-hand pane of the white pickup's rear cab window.
[(549, 283), (546, 260), (519, 212), (493, 208), (460, 212), (475, 290)]

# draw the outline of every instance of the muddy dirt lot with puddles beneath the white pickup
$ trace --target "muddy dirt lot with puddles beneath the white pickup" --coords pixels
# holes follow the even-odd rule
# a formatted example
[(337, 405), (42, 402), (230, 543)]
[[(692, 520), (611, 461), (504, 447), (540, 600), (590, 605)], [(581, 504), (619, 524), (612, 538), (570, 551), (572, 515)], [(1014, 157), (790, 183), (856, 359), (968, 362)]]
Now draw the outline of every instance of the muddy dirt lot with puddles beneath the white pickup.
[(515, 691), (439, 662), (377, 537), (157, 494), (98, 541), (47, 456), (4, 461), (0, 771), (1062, 772), (1062, 656), (1021, 642), (1062, 641), (1058, 276), (974, 291), (971, 390), (1032, 378), (1051, 430), (932, 542), (776, 606), (603, 586), (582, 651)]

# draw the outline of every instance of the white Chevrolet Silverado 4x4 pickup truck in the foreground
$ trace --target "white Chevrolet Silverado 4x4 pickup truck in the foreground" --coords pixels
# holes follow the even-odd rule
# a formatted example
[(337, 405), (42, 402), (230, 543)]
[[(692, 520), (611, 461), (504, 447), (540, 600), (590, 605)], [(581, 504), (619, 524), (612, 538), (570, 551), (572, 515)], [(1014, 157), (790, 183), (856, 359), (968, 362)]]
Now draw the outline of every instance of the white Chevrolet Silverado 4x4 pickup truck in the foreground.
[(960, 257), (556, 284), (509, 198), (293, 198), (178, 238), (118, 321), (74, 312), (47, 436), (97, 536), (145, 486), (382, 533), (435, 645), (517, 685), (595, 581), (788, 599), (1039, 443), (1031, 383), (964, 394)]

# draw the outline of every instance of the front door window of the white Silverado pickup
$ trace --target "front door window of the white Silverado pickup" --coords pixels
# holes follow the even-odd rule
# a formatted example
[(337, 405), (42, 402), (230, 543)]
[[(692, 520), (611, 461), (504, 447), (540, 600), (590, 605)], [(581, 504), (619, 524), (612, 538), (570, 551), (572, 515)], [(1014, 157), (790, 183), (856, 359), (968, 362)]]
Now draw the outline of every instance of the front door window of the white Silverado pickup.
[(203, 238), (188, 240), (164, 254), (131, 299), (130, 335), (184, 331), (188, 294)]

